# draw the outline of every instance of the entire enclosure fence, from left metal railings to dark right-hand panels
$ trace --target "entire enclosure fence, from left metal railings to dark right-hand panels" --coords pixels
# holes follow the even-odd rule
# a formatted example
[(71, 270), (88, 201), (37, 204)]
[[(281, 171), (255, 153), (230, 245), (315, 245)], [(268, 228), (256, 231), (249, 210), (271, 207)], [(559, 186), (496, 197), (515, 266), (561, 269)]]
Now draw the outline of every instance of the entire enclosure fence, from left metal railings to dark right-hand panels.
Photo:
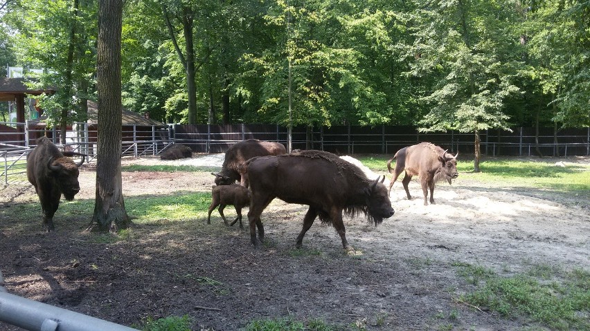
[[(287, 128), (274, 124), (168, 124), (167, 126), (124, 125), (121, 155), (141, 157), (159, 155), (171, 144), (181, 143), (197, 153), (223, 153), (236, 142), (258, 139), (287, 144)], [(96, 127), (74, 123), (66, 130), (66, 143), (60, 144), (58, 129), (46, 130), (29, 122), (0, 122), (0, 180), (26, 181), (26, 155), (37, 138), (46, 135), (60, 149), (88, 155), (93, 162), (97, 152)], [(359, 153), (392, 154), (404, 146), (432, 142), (452, 153), (474, 153), (474, 133), (447, 131), (420, 133), (409, 126), (330, 126), (309, 129), (294, 127), (292, 149), (320, 149), (339, 155)], [(489, 130), (480, 133), (484, 155), (590, 155), (590, 127), (583, 129), (515, 128), (510, 131)], [(538, 140), (536, 142), (535, 140)]]

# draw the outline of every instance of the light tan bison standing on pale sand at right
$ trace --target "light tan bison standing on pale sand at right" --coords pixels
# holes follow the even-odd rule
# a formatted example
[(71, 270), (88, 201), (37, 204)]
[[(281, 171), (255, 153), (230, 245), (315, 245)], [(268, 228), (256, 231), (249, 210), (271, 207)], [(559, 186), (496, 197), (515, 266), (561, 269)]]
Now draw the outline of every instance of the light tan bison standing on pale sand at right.
[(397, 151), (393, 158), (387, 161), (387, 169), (391, 173), (391, 161), (396, 160), (388, 193), (391, 194), (391, 187), (397, 180), (397, 176), (400, 176), (400, 173), (405, 170), (406, 176), (404, 176), (402, 184), (408, 195), (408, 200), (412, 198), (408, 184), (412, 176), (418, 175), (424, 193), (424, 206), (428, 205), (428, 189), (430, 189), (430, 203), (433, 204), (434, 183), (439, 180), (447, 180), (451, 184), (451, 180), (459, 176), (457, 172), (457, 155), (459, 153), (453, 156), (447, 151), (429, 142), (421, 142)]

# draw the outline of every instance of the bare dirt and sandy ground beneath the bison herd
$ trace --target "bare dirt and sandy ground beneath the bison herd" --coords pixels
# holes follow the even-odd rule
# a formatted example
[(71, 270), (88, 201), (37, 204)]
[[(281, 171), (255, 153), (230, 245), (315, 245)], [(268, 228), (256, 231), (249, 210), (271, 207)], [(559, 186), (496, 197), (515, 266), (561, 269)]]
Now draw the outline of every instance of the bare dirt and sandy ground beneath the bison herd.
[[(124, 172), (124, 194), (210, 192), (209, 172)], [(95, 174), (82, 168), (76, 199), (93, 199)], [(523, 330), (537, 325), (458, 300), (473, 287), (454, 265), (500, 274), (539, 265), (590, 268), (588, 195), (462, 176), (437, 186), (436, 205), (422, 205), (416, 181), (411, 193), (415, 198), (406, 200), (395, 183), (395, 215), (378, 227), (347, 218), (355, 252), (346, 254), (336, 231), (319, 222), (304, 248), (294, 249), (306, 208), (280, 200), (262, 214), (268, 243), (261, 249), (251, 247), (248, 230), (225, 227), (217, 211), (211, 225), (162, 220), (134, 225), (128, 238), (113, 242), (84, 231), (91, 216), (58, 210), (58, 231), (46, 234), (40, 211), (26, 224), (5, 216), (8, 209), (38, 207), (33, 187), (9, 185), (0, 189), (0, 269), (8, 291), (29, 299), (124, 325), (188, 314), (193, 330), (220, 331), (284, 316), (321, 319), (341, 330)], [(225, 214), (233, 219), (235, 211)], [(441, 318), (450, 312), (456, 319)], [(0, 322), (5, 330), (19, 329)]]

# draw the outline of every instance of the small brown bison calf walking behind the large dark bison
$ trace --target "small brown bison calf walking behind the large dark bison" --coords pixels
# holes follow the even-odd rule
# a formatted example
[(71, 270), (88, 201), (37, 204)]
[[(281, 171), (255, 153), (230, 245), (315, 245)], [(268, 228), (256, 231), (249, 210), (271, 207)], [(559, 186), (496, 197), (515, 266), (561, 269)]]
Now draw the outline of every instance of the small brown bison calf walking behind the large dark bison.
[(242, 208), (250, 205), (250, 191), (242, 185), (214, 185), (211, 189), (211, 205), (209, 206), (209, 214), (207, 216), (207, 224), (211, 224), (211, 211), (215, 207), (220, 206), (219, 212), (223, 218), (223, 223), (229, 225), (223, 214), (223, 209), (226, 205), (233, 205), (235, 211), (238, 213), (238, 217), (233, 220), (231, 225), (234, 225), (240, 220), (240, 228), (244, 228), (242, 225)]

